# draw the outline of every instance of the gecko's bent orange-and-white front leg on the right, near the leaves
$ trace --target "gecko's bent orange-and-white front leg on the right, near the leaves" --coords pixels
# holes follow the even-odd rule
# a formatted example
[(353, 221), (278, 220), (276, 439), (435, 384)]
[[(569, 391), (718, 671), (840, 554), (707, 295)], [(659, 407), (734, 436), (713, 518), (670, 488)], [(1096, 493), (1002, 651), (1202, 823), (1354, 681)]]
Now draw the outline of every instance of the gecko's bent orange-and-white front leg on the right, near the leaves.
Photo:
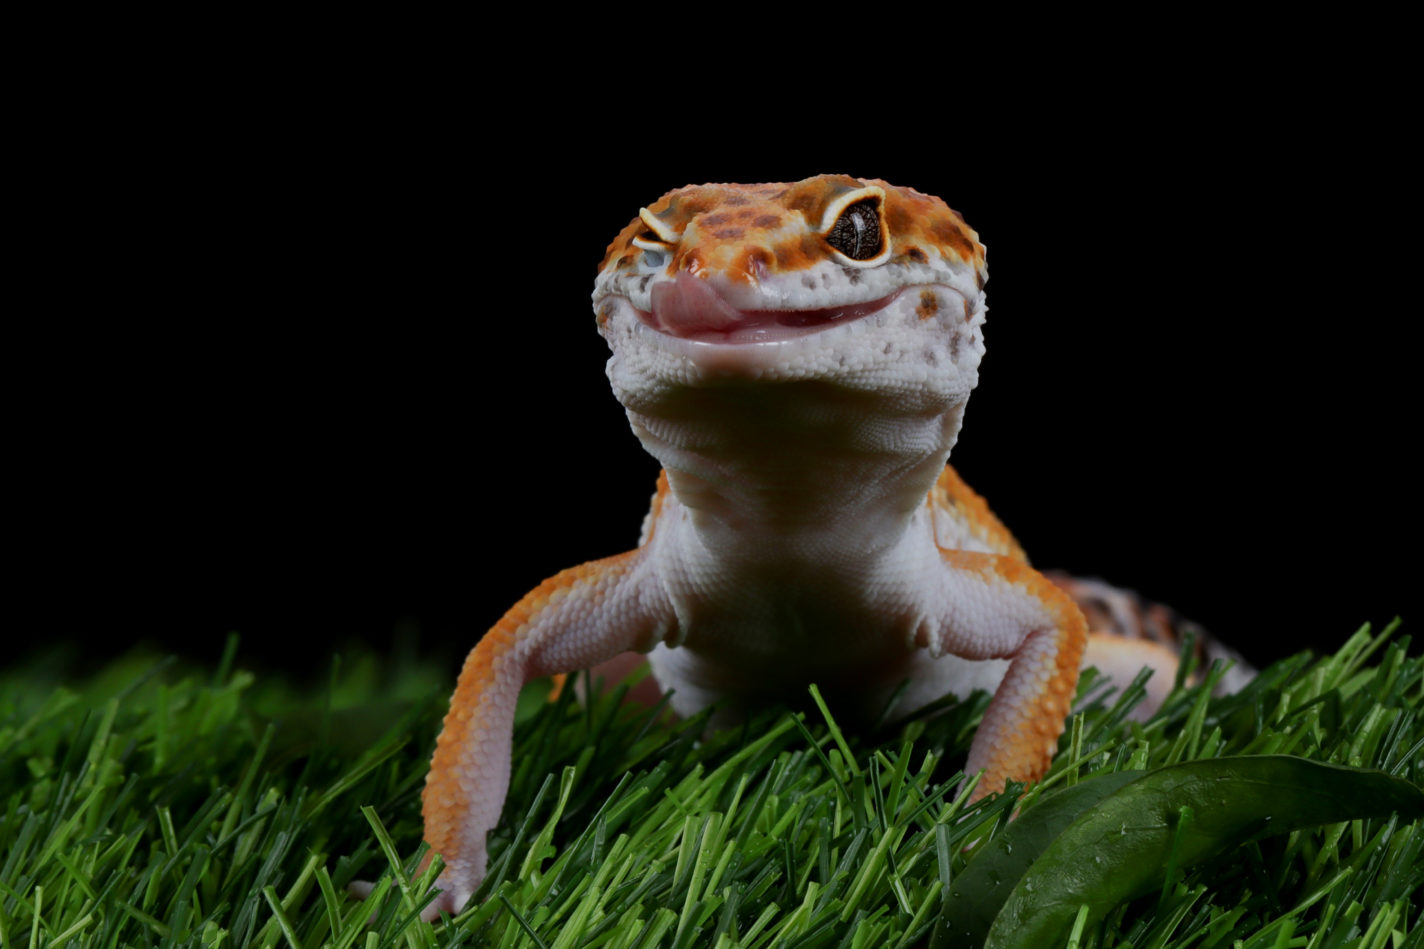
[(940, 550), (938, 631), (920, 645), (971, 660), (1011, 660), (970, 745), (967, 774), (984, 772), (973, 799), (1048, 771), (1078, 685), (1087, 644), (1082, 611), (1025, 561)]

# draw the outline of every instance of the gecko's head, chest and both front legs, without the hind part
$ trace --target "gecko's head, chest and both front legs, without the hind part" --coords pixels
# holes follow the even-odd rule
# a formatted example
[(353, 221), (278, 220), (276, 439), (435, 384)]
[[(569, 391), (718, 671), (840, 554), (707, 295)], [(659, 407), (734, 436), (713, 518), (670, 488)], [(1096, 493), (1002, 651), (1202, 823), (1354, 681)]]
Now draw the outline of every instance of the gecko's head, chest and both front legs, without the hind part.
[(988, 688), (975, 795), (1044, 774), (1088, 627), (946, 467), (984, 281), (943, 201), (846, 175), (679, 188), (614, 238), (595, 321), (664, 472), (637, 549), (544, 581), (470, 653), (423, 798), (427, 918), (484, 876), (520, 687), (629, 651), (684, 715), (809, 683), (852, 721), (906, 681), (901, 710)]

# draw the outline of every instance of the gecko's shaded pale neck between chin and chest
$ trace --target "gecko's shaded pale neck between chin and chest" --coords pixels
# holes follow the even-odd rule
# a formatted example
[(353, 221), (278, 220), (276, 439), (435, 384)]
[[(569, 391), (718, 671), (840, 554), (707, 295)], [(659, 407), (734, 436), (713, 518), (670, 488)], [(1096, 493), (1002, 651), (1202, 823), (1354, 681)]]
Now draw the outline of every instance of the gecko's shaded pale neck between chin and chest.
[(924, 507), (965, 400), (785, 382), (679, 389), (628, 419), (708, 549), (874, 554)]

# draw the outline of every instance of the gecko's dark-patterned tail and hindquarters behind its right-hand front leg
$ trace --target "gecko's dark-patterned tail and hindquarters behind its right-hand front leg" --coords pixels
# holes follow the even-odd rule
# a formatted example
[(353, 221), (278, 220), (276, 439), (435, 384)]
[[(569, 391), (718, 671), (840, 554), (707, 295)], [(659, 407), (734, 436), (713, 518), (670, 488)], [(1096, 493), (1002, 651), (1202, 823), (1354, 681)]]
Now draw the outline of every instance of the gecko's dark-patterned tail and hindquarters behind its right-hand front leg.
[[(1216, 660), (1233, 663), (1216, 685), (1218, 695), (1240, 690), (1256, 675), (1256, 668), (1240, 653), (1172, 607), (1095, 577), (1071, 577), (1061, 571), (1045, 571), (1044, 576), (1068, 593), (1088, 620), (1089, 655), (1085, 664), (1098, 664), (1099, 668), (1116, 665), (1119, 671), (1114, 674), (1121, 674), (1122, 664), (1152, 664), (1163, 673), (1168, 670), (1159, 663), (1143, 657), (1171, 654), (1173, 675), (1159, 681), (1161, 688), (1175, 678), (1176, 657), (1182, 654), (1182, 644), (1190, 638), (1198, 670), (1193, 681), (1199, 681)], [(1163, 675), (1153, 678), (1162, 680)]]

